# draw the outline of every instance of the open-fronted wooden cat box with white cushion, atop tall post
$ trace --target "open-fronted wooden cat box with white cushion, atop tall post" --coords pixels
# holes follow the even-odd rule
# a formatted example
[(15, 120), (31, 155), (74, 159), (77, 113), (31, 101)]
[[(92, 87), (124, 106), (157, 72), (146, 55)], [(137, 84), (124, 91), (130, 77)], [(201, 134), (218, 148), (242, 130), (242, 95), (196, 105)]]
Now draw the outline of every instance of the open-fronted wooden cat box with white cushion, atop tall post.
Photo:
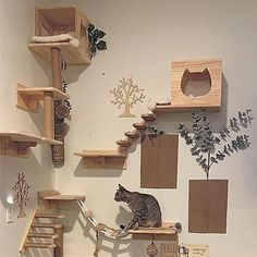
[(89, 64), (88, 19), (76, 8), (35, 10), (35, 36), (28, 48), (51, 62), (59, 49), (68, 64)]

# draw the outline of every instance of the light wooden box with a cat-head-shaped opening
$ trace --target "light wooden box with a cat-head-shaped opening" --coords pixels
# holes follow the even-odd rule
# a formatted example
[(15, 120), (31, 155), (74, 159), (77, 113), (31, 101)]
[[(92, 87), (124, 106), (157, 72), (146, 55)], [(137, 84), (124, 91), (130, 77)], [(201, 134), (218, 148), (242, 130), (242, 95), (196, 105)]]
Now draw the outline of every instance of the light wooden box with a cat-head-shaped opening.
[[(174, 109), (205, 108), (217, 111), (221, 107), (222, 61), (220, 59), (176, 61), (172, 63), (171, 107)], [(203, 95), (186, 95), (188, 82), (199, 85), (209, 82)], [(196, 86), (195, 86), (196, 87)], [(192, 88), (194, 91), (196, 88)]]

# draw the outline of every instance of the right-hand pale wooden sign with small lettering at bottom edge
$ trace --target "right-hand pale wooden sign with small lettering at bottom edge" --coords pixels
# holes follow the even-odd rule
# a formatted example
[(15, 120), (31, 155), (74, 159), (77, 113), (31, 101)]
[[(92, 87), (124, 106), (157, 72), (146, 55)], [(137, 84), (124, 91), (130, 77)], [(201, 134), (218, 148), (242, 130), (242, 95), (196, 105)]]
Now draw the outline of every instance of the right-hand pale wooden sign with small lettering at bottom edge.
[(180, 246), (180, 257), (209, 257), (209, 245), (183, 244)]

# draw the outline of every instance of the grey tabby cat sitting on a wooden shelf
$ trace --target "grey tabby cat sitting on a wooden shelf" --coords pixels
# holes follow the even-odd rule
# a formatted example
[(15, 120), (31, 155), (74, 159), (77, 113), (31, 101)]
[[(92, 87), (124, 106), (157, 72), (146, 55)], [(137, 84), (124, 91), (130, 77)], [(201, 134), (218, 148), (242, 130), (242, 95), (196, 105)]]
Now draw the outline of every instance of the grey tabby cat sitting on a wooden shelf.
[(126, 203), (134, 215), (131, 222), (124, 228), (124, 231), (137, 229), (138, 227), (161, 227), (160, 206), (152, 195), (130, 192), (119, 184), (119, 189), (115, 193), (114, 200)]

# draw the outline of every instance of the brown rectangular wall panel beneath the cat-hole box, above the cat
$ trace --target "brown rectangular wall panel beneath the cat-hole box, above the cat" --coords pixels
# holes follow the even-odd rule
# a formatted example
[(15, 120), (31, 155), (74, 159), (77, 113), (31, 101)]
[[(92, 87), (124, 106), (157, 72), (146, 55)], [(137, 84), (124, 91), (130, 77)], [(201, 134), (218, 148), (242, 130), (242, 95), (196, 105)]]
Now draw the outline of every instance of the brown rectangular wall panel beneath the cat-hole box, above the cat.
[(178, 134), (166, 134), (152, 140), (145, 136), (140, 151), (140, 187), (176, 188)]

